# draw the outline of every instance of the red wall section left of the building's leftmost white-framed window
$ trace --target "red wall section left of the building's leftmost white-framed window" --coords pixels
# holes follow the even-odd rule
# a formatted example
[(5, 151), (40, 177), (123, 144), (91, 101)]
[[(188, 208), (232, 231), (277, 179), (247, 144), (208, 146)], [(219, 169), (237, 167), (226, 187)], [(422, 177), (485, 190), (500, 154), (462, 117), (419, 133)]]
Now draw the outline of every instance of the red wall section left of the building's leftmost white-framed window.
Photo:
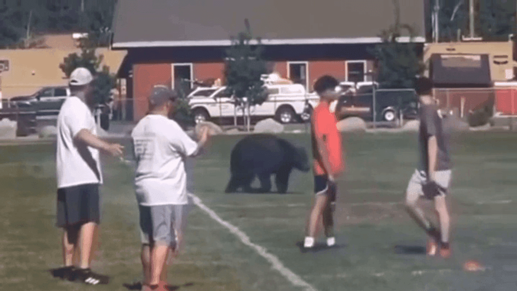
[(148, 98), (155, 85), (171, 87), (171, 64), (133, 65), (134, 121), (139, 121), (149, 110)]

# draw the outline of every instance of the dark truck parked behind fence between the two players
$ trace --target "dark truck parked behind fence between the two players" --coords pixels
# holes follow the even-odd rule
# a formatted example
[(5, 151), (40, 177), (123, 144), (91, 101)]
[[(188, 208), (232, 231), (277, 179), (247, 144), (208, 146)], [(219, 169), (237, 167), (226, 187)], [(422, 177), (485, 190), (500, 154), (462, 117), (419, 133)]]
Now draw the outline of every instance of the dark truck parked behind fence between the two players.
[[(376, 88), (375, 97), (375, 121), (395, 121), (401, 113), (404, 119), (415, 119), (418, 115), (418, 98), (414, 90)], [(336, 104), (336, 116), (338, 119), (357, 116), (373, 121), (373, 85), (341, 95)]]

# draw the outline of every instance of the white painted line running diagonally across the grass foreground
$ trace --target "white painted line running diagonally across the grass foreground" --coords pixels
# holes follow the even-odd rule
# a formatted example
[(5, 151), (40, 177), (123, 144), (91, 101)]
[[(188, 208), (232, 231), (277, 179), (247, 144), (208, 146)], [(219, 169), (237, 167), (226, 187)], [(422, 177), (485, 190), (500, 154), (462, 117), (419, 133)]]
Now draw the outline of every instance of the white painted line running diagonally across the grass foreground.
[(204, 205), (199, 197), (197, 197), (196, 195), (194, 195), (192, 193), (189, 193), (189, 196), (192, 198), (194, 204), (197, 207), (199, 207), (203, 211), (205, 211), (213, 220), (217, 221), (219, 224), (226, 227), (232, 234), (237, 236), (242, 243), (246, 244), (246, 246), (252, 248), (259, 255), (264, 257), (271, 264), (273, 269), (279, 271), (283, 275), (283, 277), (285, 277), (293, 285), (298, 286), (298, 287), (303, 287), (304, 290), (307, 290), (307, 291), (317, 291), (317, 289), (314, 286), (312, 286), (311, 284), (309, 284), (306, 281), (304, 281), (303, 279), (301, 279), (300, 276), (293, 273), (293, 271), (291, 271), (290, 269), (286, 268), (277, 256), (268, 253), (266, 248), (258, 246), (258, 244), (251, 242), (248, 235), (246, 235), (244, 232), (242, 232), (235, 225), (222, 220), (217, 215), (217, 213), (214, 212), (214, 210), (212, 210), (212, 209), (208, 208), (206, 205)]

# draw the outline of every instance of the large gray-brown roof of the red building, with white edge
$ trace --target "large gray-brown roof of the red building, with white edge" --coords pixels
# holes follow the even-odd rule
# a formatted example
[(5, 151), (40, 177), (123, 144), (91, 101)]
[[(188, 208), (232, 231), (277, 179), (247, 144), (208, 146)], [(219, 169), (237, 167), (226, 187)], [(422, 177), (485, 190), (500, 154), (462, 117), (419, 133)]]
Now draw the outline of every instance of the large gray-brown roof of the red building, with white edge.
[[(423, 42), (424, 0), (399, 0)], [(391, 0), (120, 0), (114, 48), (228, 45), (250, 21), (266, 44), (371, 43), (394, 22)]]

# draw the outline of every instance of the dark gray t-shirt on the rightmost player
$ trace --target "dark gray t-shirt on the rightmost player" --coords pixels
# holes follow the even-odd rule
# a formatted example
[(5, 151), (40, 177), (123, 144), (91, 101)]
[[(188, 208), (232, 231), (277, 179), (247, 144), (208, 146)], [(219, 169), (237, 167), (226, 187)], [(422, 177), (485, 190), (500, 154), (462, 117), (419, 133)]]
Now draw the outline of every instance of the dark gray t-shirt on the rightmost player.
[[(428, 154), (428, 140), (431, 136), (436, 136), (436, 143), (438, 145), (436, 171), (450, 170), (452, 167), (450, 159), (450, 130), (443, 118), (438, 114), (438, 107), (436, 105), (421, 105), (420, 106), (420, 129), (418, 132), (418, 145), (420, 149), (420, 162), (418, 170), (427, 173), (429, 169), (429, 154)], [(447, 117), (445, 117), (447, 118)]]

